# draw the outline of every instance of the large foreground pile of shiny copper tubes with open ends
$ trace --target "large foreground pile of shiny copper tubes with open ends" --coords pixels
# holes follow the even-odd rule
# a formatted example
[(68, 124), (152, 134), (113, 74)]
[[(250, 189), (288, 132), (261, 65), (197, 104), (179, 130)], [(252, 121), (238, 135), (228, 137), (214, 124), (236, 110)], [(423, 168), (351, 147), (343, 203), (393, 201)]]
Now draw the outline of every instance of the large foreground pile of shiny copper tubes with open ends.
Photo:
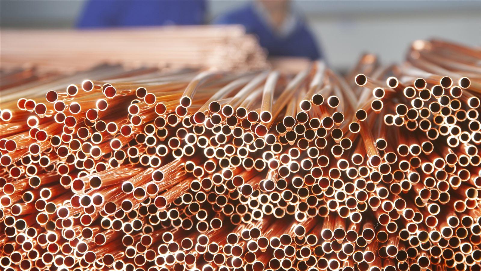
[(416, 41), (345, 77), (100, 67), (6, 90), (0, 266), (480, 270), (480, 60)]

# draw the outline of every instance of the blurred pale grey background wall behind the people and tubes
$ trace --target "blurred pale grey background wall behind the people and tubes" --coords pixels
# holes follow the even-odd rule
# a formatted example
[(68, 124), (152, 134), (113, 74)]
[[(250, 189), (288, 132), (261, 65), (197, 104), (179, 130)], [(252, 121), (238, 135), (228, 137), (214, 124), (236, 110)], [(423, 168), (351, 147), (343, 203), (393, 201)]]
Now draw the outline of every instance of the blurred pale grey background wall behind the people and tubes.
[[(74, 28), (88, 0), (1, 0), (2, 28)], [(206, 23), (250, 0), (207, 0)], [(329, 64), (345, 70), (359, 54), (399, 62), (410, 42), (438, 37), (481, 44), (480, 0), (292, 0)]]

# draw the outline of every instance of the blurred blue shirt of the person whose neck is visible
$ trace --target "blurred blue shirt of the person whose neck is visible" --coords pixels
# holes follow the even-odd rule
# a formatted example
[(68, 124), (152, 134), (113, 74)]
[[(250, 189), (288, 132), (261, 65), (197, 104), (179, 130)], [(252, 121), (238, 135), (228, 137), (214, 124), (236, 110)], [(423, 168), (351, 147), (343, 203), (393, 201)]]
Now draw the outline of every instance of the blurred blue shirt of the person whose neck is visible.
[(217, 18), (215, 24), (240, 24), (248, 33), (258, 36), (259, 43), (266, 48), (269, 55), (274, 56), (304, 56), (310, 59), (322, 58), (316, 41), (306, 23), (302, 19), (296, 20), (296, 25), (286, 36), (276, 34), (266, 21), (259, 17), (259, 13), (252, 4), (232, 11)]

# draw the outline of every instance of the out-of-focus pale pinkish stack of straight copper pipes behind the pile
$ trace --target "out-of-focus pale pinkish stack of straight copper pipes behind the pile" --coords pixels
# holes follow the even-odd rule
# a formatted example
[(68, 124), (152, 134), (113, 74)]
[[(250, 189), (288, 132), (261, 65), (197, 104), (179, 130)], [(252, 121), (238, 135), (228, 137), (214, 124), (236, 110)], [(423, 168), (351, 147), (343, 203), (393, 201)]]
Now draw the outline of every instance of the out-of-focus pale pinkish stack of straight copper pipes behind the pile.
[(267, 68), (266, 54), (242, 26), (101, 30), (0, 30), (2, 68), (30, 64), (76, 71), (107, 63), (129, 66)]

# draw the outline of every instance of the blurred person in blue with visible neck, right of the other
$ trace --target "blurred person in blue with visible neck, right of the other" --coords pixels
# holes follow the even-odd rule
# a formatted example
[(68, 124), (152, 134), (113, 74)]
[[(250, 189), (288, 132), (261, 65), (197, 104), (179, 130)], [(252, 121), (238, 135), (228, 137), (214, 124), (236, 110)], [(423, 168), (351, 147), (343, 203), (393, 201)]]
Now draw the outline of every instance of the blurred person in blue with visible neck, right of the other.
[(253, 0), (221, 15), (214, 23), (243, 25), (248, 33), (258, 36), (269, 56), (323, 58), (303, 16), (293, 10), (291, 0)]

